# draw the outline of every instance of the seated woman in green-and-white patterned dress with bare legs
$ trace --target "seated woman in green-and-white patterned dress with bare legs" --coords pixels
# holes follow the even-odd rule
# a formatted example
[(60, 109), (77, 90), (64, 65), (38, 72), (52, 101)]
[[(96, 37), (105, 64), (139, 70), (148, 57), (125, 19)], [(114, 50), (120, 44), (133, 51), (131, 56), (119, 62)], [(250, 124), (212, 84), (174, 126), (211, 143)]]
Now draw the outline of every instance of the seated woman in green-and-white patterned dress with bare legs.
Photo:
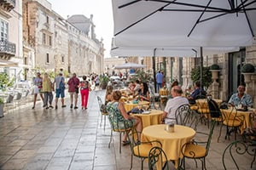
[[(119, 102), (119, 99), (122, 97), (121, 92), (119, 90), (113, 91), (112, 97), (113, 101), (108, 102), (107, 111), (109, 113), (109, 119), (113, 123), (113, 128), (125, 129), (125, 127), (136, 127), (137, 133), (141, 133), (143, 129), (141, 119), (137, 116), (129, 116), (125, 111), (124, 104)], [(126, 138), (127, 136), (125, 133), (123, 145), (129, 144)], [(138, 135), (138, 142), (140, 142), (140, 140), (140, 135)]]

